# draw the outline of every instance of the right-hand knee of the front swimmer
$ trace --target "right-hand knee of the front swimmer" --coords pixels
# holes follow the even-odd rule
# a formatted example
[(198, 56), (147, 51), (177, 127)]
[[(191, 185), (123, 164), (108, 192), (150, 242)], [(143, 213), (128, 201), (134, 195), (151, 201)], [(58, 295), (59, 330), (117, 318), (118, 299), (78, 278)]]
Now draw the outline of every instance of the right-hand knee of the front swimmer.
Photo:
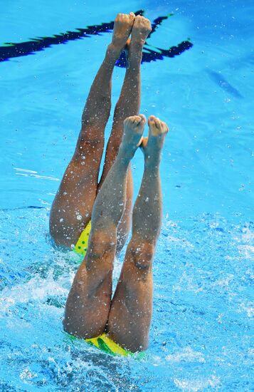
[(150, 242), (134, 242), (131, 244), (132, 260), (138, 269), (149, 269), (154, 258), (154, 244)]

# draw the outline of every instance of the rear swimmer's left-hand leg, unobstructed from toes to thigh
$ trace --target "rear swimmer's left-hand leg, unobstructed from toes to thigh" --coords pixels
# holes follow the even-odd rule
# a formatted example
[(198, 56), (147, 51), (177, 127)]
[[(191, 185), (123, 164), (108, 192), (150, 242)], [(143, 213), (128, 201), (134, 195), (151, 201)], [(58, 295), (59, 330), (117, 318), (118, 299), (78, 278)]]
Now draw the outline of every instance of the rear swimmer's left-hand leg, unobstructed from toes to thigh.
[(112, 43), (90, 88), (75, 153), (51, 208), (50, 231), (56, 244), (68, 247), (75, 244), (90, 220), (97, 194), (104, 130), (110, 115), (112, 72), (133, 21), (134, 14), (117, 15)]

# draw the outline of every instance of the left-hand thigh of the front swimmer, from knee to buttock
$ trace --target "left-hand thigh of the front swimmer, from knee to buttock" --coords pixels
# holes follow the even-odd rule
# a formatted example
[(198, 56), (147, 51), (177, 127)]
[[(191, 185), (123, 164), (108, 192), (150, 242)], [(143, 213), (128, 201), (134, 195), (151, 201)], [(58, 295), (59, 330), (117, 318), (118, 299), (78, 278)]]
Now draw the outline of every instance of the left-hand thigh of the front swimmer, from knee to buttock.
[(65, 331), (82, 338), (105, 331), (112, 295), (114, 239), (91, 232), (88, 252), (73, 280), (65, 306)]

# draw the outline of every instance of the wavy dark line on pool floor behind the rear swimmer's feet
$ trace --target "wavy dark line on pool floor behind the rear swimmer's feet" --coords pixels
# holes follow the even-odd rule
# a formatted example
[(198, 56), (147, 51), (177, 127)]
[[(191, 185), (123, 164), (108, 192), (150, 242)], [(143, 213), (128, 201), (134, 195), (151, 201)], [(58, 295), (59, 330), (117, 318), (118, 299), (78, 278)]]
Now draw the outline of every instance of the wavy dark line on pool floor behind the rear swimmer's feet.
[[(135, 15), (143, 15), (144, 11), (140, 10), (135, 12)], [(149, 33), (148, 38), (156, 31), (162, 21), (168, 19), (169, 16), (159, 16), (152, 22), (152, 31)], [(59, 45), (60, 43), (67, 43), (68, 41), (75, 41), (81, 38), (90, 38), (90, 36), (100, 36), (101, 33), (111, 32), (114, 28), (114, 21), (109, 23), (102, 23), (100, 25), (88, 26), (86, 29), (76, 29), (77, 31), (67, 31), (66, 33), (55, 34), (51, 37), (31, 38), (31, 41), (22, 43), (6, 43), (6, 46), (0, 46), (0, 61), (8, 61), (10, 58), (28, 56), (37, 51), (43, 51), (51, 45)], [(144, 46), (145, 50), (142, 56), (142, 63), (149, 63), (150, 61), (163, 60), (164, 57), (179, 56), (179, 54), (191, 48), (193, 44), (190, 41), (183, 41), (177, 46), (172, 46), (169, 49), (156, 48), (154, 51), (147, 43)], [(122, 52), (119, 60), (116, 63), (119, 67), (126, 66), (125, 52)]]

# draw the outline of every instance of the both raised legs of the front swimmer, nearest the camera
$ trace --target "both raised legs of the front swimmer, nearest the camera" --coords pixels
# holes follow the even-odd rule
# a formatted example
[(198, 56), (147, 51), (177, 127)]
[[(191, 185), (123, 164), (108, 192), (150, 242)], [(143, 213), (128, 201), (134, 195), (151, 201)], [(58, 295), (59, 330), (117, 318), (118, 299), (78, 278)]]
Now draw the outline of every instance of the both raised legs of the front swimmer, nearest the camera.
[[(149, 137), (142, 138), (144, 115), (124, 123), (122, 144), (92, 210), (88, 252), (75, 275), (65, 307), (64, 328), (83, 338), (108, 336), (129, 351), (147, 348), (152, 317), (152, 259), (162, 221), (159, 162), (165, 123), (149, 117)], [(126, 202), (129, 163), (138, 146), (144, 153), (142, 185), (132, 213), (132, 238), (112, 299), (112, 270), (117, 226)]]

